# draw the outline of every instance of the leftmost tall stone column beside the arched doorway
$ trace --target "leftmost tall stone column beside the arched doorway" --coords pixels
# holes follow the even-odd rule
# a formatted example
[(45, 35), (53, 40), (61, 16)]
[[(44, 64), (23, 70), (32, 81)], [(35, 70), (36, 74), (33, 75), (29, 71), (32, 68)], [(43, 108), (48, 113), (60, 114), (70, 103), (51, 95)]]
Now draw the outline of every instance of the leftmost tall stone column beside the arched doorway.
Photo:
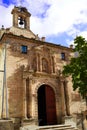
[(23, 118), (27, 118), (26, 79), (23, 79)]

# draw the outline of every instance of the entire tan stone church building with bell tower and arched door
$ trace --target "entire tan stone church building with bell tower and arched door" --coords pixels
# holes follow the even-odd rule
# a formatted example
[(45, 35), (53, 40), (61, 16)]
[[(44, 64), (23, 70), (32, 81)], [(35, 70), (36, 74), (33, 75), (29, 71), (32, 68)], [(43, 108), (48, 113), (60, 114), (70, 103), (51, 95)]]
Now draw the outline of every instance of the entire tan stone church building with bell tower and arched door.
[(62, 75), (73, 49), (35, 35), (25, 7), (14, 7), (11, 13), (13, 26), (0, 29), (0, 118), (62, 124), (65, 116), (85, 109), (71, 77)]

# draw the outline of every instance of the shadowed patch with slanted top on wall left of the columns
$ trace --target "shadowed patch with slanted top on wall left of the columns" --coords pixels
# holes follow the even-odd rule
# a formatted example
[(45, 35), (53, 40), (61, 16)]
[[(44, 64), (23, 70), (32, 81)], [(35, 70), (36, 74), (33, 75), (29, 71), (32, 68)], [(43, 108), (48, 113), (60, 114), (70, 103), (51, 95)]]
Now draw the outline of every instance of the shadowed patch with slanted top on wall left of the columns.
[(8, 77), (7, 86), (9, 91), (9, 116), (21, 117), (23, 108), (23, 66), (15, 70), (15, 73)]

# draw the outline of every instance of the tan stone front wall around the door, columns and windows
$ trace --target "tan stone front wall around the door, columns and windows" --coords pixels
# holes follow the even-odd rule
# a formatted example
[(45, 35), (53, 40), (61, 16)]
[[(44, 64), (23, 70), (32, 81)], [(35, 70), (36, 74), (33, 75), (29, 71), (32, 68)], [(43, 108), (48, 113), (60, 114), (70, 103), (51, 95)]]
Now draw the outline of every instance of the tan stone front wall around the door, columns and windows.
[[(36, 93), (38, 88), (43, 84), (48, 84), (56, 90), (56, 111), (57, 116), (64, 116), (66, 113), (61, 113), (61, 111), (66, 111), (65, 104), (62, 100), (61, 102), (61, 83), (65, 79), (62, 79), (62, 69), (63, 66), (69, 63), (70, 50), (68, 48), (55, 46), (52, 44), (37, 41), (34, 39), (26, 39), (24, 37), (15, 37), (14, 35), (8, 35), (7, 40), (7, 55), (6, 55), (6, 76), (7, 76), (7, 87), (8, 87), (8, 110), (9, 116), (13, 118), (23, 118), (25, 115), (26, 105), (25, 101), (26, 94), (24, 95), (25, 86), (24, 79), (33, 78), (31, 83), (32, 93), (30, 93), (32, 100), (31, 115), (33, 118), (38, 118), (37, 112), (37, 97)], [(27, 53), (23, 54), (21, 51), (21, 46), (27, 46)], [(61, 59), (61, 53), (66, 54), (66, 59)], [(45, 59), (48, 63), (48, 69), (43, 69), (42, 59)], [(35, 60), (35, 62), (33, 62)], [(34, 64), (33, 64), (34, 63)], [(49, 71), (47, 71), (49, 70)], [(45, 71), (45, 72), (44, 72)], [(77, 108), (75, 104), (77, 101), (72, 98), (72, 83), (71, 78), (67, 79), (67, 97), (66, 102), (68, 109), (70, 108), (70, 114), (76, 113)], [(34, 90), (37, 90), (36, 92)], [(30, 97), (29, 95), (29, 97)], [(79, 101), (80, 103), (80, 101)], [(64, 104), (61, 106), (61, 104)], [(30, 108), (30, 107), (29, 107)]]

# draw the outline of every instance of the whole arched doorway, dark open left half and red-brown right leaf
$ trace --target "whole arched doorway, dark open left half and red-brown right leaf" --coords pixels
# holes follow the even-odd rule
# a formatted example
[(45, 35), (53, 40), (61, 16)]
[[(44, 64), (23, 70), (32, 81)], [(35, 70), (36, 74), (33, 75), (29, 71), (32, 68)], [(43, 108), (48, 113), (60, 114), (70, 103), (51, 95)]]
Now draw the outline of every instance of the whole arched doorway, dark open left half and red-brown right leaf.
[(38, 89), (38, 120), (40, 126), (57, 123), (55, 93), (48, 85)]

